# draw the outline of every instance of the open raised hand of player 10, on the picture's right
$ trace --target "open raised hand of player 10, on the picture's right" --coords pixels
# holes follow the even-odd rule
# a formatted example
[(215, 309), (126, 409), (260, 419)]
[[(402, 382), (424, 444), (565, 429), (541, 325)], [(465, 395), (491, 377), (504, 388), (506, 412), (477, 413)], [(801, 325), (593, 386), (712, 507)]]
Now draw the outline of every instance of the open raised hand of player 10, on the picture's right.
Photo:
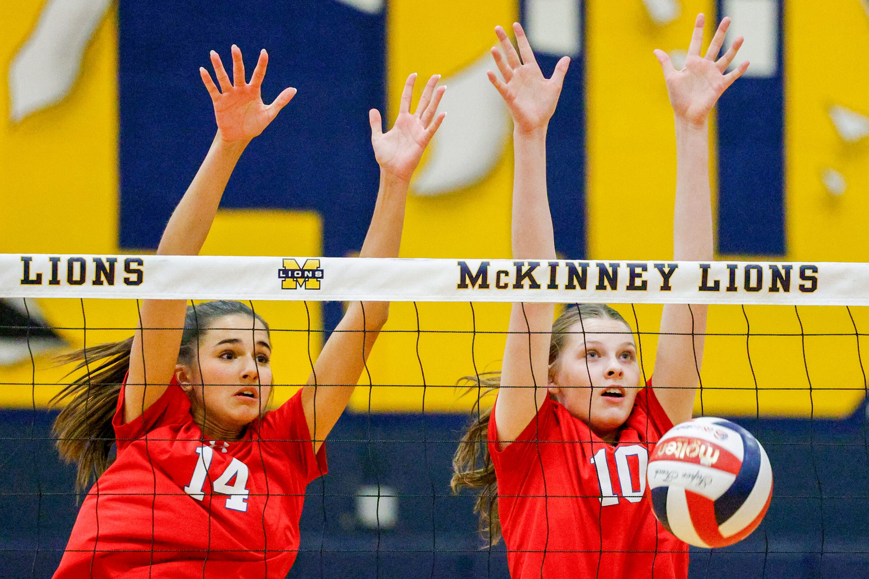
[(706, 56), (700, 56), (704, 20), (702, 14), (697, 15), (683, 69), (674, 69), (670, 56), (663, 50), (654, 51), (661, 69), (664, 70), (667, 93), (670, 95), (670, 104), (673, 105), (676, 119), (694, 126), (706, 123), (720, 95), (748, 68), (748, 61), (745, 61), (731, 72), (726, 72), (742, 46), (742, 36), (737, 37), (725, 55), (718, 58), (724, 36), (730, 26), (730, 18), (727, 17), (721, 20), (712, 43), (706, 50)]

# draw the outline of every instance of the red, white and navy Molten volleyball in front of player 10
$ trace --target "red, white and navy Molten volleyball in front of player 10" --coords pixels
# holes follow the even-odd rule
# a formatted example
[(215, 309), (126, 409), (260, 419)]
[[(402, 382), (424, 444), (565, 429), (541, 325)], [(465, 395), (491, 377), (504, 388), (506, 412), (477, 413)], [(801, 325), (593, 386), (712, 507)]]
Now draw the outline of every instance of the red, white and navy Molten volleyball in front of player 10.
[(766, 451), (738, 424), (694, 418), (673, 426), (648, 464), (655, 516), (695, 547), (726, 547), (757, 528), (773, 497)]

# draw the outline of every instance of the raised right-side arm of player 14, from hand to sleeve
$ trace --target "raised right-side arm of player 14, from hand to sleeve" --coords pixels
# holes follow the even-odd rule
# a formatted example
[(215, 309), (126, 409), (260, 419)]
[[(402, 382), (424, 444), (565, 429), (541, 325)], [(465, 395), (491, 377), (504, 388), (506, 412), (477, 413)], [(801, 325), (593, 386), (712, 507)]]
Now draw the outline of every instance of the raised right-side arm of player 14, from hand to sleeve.
[[(368, 113), (371, 124), (371, 145), (380, 165), (380, 189), (377, 191), (375, 212), (362, 244), (360, 257), (398, 257), (404, 208), (410, 178), (420, 163), (423, 151), (434, 132), (441, 126), (446, 113), (437, 114), (446, 87), (435, 89), (440, 79), (432, 76), (416, 106), (410, 112), (416, 75), (408, 76), (401, 94), (401, 107), (395, 125), (382, 131), (381, 114), (377, 109)], [(378, 333), (386, 324), (389, 304), (385, 301), (352, 302), (343, 319), (323, 346), (302, 391), (302, 406), (308, 431), (315, 439), (318, 451), (323, 439), (341, 417), (365, 368), (365, 361), (375, 345)], [(315, 386), (316, 385), (316, 386)]]

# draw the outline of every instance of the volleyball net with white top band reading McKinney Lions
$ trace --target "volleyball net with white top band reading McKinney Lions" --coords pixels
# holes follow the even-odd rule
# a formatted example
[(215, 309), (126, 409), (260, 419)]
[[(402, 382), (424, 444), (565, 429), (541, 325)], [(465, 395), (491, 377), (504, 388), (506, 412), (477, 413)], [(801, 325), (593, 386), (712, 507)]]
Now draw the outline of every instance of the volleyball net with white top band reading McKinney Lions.
[(18, 576), (56, 566), (77, 510), (50, 434), (70, 370), (56, 355), (129, 338), (142, 299), (249, 305), (270, 326), (273, 406), (308, 380), (335, 302), (393, 302), (328, 436), (329, 474), (308, 486), (290, 576), (507, 576), (503, 542), (481, 540), (474, 497), (448, 482), (469, 420), (494, 402), (459, 382), (500, 370), (515, 302), (613, 306), (646, 378), (661, 306), (713, 306), (695, 416), (752, 431), (776, 487), (746, 540), (692, 549), (692, 575), (869, 563), (869, 264), (0, 254), (2, 549)]

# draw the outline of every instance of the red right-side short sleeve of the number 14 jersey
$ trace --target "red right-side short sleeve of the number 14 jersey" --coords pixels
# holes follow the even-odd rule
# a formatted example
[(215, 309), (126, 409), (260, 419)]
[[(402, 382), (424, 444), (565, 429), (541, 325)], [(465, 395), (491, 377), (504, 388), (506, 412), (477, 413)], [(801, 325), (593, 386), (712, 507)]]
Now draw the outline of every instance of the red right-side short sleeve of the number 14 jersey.
[(280, 408), (262, 417), (263, 440), (280, 441), (287, 449), (288, 460), (302, 474), (305, 484), (328, 472), (326, 444), (314, 454), (314, 444), (308, 431), (308, 420), (302, 408), (302, 391), (297, 391)]

